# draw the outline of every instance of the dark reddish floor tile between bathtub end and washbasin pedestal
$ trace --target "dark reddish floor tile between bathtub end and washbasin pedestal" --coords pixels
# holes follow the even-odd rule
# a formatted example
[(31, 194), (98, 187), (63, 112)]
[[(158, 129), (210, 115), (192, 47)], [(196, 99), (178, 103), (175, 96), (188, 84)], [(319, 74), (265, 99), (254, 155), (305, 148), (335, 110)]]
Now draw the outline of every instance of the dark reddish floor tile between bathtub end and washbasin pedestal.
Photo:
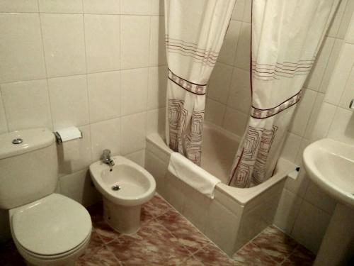
[(297, 242), (275, 226), (269, 226), (252, 240), (252, 243), (276, 262), (285, 260), (297, 246)]

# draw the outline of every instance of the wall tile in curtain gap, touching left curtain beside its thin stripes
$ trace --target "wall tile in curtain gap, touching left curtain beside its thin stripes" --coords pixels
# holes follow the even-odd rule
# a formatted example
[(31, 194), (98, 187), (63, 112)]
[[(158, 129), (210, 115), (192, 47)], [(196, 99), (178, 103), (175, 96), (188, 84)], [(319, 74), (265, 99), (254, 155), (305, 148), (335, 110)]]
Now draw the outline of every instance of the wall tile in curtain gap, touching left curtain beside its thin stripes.
[(239, 42), (239, 36), (241, 31), (240, 21), (230, 21), (229, 28), (222, 43), (222, 48), (219, 52), (218, 61), (228, 65), (234, 63), (236, 55), (236, 47)]

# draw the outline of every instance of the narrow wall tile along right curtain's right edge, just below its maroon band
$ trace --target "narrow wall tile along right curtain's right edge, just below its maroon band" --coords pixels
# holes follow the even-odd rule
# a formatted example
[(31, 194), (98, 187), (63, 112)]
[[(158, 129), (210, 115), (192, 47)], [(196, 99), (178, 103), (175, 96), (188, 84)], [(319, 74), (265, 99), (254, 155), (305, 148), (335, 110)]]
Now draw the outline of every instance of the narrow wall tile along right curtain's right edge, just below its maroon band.
[(314, 106), (314, 101), (316, 100), (317, 92), (311, 89), (306, 89), (302, 100), (297, 106), (295, 111), (295, 116), (292, 118), (292, 123), (290, 126), (290, 131), (300, 136), (304, 136), (307, 122), (311, 115), (312, 106)]

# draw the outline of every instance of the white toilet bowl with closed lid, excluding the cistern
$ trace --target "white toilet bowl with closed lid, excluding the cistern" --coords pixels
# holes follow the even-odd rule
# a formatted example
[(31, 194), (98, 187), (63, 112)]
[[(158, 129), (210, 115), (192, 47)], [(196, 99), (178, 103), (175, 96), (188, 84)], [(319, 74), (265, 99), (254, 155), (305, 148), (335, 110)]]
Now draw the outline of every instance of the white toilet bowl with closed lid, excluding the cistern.
[(13, 242), (29, 265), (74, 265), (89, 245), (89, 212), (66, 196), (50, 194), (9, 214)]

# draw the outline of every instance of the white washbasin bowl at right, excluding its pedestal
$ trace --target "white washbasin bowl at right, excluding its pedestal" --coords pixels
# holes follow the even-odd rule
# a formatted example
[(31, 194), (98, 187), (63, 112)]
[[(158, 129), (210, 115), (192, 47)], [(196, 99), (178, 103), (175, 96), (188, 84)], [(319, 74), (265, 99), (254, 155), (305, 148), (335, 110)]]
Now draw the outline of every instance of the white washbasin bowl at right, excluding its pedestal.
[(324, 138), (305, 148), (303, 160), (314, 183), (354, 208), (354, 145)]

